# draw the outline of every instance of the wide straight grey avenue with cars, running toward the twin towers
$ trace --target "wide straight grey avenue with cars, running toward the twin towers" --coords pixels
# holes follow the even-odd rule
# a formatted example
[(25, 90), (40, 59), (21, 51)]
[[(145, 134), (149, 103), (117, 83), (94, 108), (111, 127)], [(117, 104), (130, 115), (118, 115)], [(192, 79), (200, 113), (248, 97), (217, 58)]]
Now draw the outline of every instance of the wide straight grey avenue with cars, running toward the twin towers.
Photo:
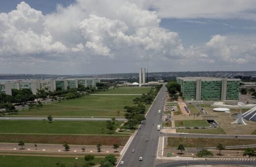
[[(157, 126), (161, 123), (166, 90), (165, 86), (160, 89), (146, 116), (145, 125), (140, 126), (141, 129), (137, 131), (121, 158), (121, 161), (125, 162), (122, 167), (153, 167), (155, 165), (160, 137), (160, 131), (157, 130)], [(160, 114), (158, 113), (159, 110), (161, 110)], [(146, 139), (149, 140), (146, 141)], [(135, 152), (131, 152), (132, 149), (135, 149)], [(143, 160), (139, 161), (139, 157), (143, 157)], [(118, 164), (118, 167), (121, 167), (121, 165)]]

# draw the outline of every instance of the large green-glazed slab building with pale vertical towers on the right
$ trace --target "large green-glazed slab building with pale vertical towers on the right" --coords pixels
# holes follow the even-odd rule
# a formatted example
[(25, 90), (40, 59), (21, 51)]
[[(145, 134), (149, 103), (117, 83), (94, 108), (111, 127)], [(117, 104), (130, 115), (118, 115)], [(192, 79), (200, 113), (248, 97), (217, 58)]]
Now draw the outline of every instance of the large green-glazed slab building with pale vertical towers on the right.
[(184, 100), (238, 100), (240, 79), (177, 77)]

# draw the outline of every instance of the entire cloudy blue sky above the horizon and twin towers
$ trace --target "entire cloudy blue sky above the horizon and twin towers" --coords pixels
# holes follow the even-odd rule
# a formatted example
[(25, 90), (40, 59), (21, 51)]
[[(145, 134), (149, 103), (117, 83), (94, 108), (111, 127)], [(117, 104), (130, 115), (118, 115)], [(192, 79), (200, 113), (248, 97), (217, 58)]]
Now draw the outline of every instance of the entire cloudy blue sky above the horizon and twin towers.
[(0, 74), (255, 64), (256, 0), (0, 0)]

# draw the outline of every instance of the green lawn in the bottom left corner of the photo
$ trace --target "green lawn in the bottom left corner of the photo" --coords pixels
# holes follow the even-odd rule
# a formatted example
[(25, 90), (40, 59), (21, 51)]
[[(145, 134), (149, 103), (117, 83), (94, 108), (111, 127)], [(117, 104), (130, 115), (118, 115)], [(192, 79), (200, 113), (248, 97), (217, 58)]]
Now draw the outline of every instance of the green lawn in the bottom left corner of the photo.
[[(103, 158), (95, 158), (95, 164), (99, 164)], [(66, 167), (78, 167), (85, 165), (84, 157), (40, 157), (40, 156), (0, 156), (0, 167), (57, 167), (56, 163), (63, 163)]]

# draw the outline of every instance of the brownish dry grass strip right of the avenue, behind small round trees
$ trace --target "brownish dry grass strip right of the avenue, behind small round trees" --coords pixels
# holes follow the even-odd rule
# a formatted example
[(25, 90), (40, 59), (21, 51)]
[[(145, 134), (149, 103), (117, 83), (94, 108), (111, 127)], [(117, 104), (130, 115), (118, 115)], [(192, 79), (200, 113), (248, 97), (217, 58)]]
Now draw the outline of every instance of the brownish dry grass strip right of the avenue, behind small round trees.
[(223, 139), (223, 138), (168, 138), (167, 147), (216, 147), (219, 143), (224, 146), (255, 144), (256, 139)]

